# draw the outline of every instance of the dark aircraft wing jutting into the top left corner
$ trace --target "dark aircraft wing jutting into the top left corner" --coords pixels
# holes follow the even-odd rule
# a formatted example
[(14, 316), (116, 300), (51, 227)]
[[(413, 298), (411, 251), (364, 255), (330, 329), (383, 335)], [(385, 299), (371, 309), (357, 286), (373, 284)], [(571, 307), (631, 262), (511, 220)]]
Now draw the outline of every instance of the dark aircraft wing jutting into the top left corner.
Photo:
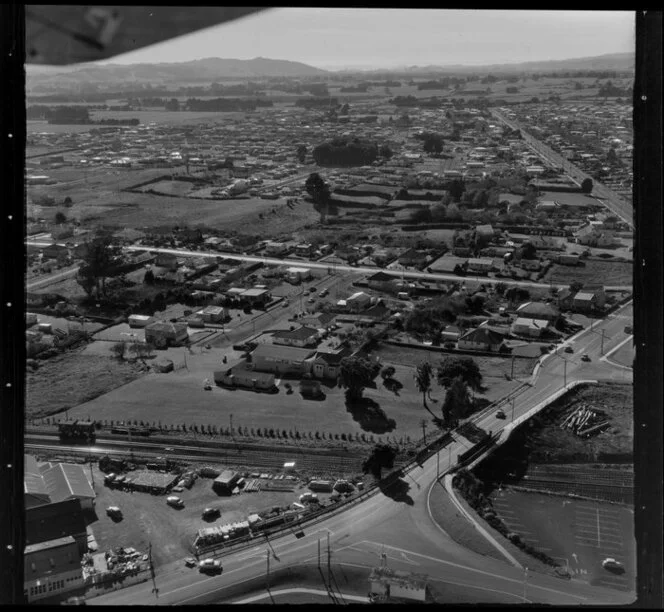
[(245, 17), (265, 7), (25, 7), (26, 62), (94, 62)]

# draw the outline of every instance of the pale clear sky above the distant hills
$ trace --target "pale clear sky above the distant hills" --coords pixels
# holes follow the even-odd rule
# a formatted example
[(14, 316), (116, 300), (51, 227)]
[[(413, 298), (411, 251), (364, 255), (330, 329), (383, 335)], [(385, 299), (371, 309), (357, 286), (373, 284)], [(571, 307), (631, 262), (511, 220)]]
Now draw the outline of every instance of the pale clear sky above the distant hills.
[(486, 65), (634, 50), (630, 11), (274, 8), (104, 63), (266, 57), (326, 69)]

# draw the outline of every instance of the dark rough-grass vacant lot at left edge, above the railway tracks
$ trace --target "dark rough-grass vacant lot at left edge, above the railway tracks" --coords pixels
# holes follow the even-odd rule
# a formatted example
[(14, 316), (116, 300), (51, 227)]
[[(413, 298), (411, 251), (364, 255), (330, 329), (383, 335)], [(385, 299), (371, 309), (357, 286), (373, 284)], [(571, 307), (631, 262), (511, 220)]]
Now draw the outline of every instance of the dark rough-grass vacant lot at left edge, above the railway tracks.
[[(36, 372), (26, 374), (25, 413), (28, 417), (48, 416), (72, 408), (141, 375), (126, 362), (83, 354), (80, 350), (39, 363)], [(92, 413), (90, 417), (94, 418)], [(78, 418), (83, 418), (83, 413), (79, 413)]]

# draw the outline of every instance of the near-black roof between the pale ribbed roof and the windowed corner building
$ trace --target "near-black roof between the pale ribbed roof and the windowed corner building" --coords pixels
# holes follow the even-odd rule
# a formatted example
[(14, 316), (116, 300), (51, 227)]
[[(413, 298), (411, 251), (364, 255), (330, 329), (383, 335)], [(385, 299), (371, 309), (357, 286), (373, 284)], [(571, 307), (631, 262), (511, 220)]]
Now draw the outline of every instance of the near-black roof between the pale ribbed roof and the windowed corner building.
[(78, 498), (25, 509), (26, 544), (81, 533), (85, 533), (85, 519)]

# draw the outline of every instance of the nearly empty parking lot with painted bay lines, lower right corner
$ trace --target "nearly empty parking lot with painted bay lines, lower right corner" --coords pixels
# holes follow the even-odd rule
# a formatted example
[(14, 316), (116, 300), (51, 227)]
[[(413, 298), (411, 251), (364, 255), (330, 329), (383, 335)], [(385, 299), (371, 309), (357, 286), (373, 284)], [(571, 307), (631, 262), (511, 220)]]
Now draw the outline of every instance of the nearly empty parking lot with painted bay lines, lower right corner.
[[(510, 489), (495, 491), (491, 500), (511, 531), (567, 567), (572, 579), (634, 590), (636, 542), (631, 508)], [(602, 567), (608, 557), (622, 563), (625, 571)]]

